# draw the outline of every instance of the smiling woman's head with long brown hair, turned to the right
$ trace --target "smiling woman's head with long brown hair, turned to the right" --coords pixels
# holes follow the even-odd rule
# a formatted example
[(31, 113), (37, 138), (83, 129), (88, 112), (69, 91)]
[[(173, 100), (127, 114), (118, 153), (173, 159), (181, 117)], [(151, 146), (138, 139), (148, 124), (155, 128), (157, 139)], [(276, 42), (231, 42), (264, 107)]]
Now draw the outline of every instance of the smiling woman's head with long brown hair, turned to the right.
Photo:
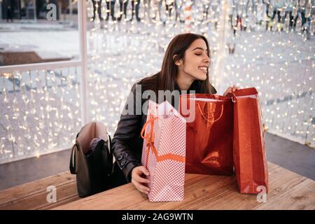
[[(198, 34), (179, 34), (169, 43), (160, 72), (139, 82), (142, 87), (154, 90), (188, 90), (216, 93), (209, 82), (209, 43)], [(192, 86), (193, 85), (193, 86)]]

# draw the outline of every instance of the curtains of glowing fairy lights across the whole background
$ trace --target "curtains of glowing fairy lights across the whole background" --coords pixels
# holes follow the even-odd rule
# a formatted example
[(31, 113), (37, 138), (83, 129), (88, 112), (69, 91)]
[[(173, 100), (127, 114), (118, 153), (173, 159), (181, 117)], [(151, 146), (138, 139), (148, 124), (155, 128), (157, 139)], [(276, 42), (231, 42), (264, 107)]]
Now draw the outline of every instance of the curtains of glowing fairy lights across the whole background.
[[(87, 1), (89, 121), (113, 135), (132, 84), (158, 72), (169, 41), (190, 31), (209, 40), (219, 94), (233, 84), (256, 87), (265, 130), (315, 146), (314, 1), (142, 0), (139, 12), (137, 1), (121, 3)], [(1, 74), (0, 161), (73, 144), (80, 75), (80, 68)]]

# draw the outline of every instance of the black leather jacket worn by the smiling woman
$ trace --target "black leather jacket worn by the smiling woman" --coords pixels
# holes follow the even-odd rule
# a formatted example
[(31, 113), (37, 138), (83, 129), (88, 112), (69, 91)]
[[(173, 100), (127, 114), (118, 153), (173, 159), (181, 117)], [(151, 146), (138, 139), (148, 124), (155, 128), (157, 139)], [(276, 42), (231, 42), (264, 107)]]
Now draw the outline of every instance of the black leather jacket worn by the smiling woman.
[[(139, 97), (136, 98), (136, 84), (137, 83), (132, 86), (129, 95), (129, 97), (134, 97), (134, 111), (136, 104), (139, 104), (141, 102), (142, 108), (142, 105), (144, 105), (144, 103), (148, 101), (148, 99), (141, 99), (141, 96), (139, 95)], [(181, 94), (179, 85), (175, 85), (174, 89), (179, 90)], [(187, 93), (189, 93), (190, 90), (195, 90), (195, 93), (200, 93), (200, 90), (198, 90), (195, 82), (192, 83)], [(216, 93), (216, 89), (213, 86), (211, 86), (211, 93)], [(125, 109), (127, 109), (127, 104), (125, 105)], [(141, 138), (140, 133), (145, 123), (146, 114), (144, 113), (141, 113), (141, 115), (122, 114), (120, 116), (117, 130), (113, 137), (113, 155), (116, 158), (118, 166), (123, 171), (127, 182), (131, 181), (132, 169), (134, 169), (134, 167), (141, 166), (141, 154), (144, 140)]]

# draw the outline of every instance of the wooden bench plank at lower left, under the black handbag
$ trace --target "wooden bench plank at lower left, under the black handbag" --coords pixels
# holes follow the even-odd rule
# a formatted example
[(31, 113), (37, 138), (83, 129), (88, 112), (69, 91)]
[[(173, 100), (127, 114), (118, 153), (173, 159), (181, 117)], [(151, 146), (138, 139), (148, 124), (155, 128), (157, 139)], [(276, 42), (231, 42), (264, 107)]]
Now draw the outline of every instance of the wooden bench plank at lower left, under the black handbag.
[[(55, 186), (57, 202), (48, 202), (48, 186)], [(0, 210), (52, 209), (78, 200), (76, 175), (63, 172), (0, 191)]]

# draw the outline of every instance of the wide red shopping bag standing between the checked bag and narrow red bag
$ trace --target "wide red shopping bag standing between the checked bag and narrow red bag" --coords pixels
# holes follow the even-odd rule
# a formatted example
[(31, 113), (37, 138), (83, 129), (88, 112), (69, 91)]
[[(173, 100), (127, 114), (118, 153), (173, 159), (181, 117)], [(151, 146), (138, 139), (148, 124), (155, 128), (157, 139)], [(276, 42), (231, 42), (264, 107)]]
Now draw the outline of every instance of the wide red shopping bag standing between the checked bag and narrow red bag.
[(215, 94), (182, 94), (179, 111), (187, 121), (186, 173), (231, 175), (231, 98)]

